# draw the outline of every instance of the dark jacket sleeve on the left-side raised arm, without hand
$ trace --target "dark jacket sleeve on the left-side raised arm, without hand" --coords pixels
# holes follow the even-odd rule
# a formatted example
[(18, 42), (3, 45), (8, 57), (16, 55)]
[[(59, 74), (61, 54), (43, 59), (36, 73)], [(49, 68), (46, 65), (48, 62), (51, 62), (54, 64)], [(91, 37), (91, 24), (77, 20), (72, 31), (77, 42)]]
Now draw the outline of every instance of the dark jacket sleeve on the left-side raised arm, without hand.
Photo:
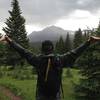
[(17, 44), (16, 42), (12, 41), (9, 42), (10, 47), (14, 48), (23, 58), (26, 58), (29, 64), (36, 66), (37, 65), (37, 56), (33, 55), (28, 50), (24, 49), (21, 45)]

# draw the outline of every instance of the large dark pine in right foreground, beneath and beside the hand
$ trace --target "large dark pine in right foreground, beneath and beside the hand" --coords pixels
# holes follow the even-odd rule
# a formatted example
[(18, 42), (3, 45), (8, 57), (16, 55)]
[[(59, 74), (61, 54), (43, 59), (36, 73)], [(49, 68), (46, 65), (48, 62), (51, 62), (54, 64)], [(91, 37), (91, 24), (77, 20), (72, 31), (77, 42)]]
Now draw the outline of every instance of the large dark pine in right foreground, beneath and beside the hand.
[[(100, 24), (95, 32), (100, 36)], [(83, 76), (76, 85), (77, 100), (100, 100), (100, 42), (91, 45), (79, 61)]]

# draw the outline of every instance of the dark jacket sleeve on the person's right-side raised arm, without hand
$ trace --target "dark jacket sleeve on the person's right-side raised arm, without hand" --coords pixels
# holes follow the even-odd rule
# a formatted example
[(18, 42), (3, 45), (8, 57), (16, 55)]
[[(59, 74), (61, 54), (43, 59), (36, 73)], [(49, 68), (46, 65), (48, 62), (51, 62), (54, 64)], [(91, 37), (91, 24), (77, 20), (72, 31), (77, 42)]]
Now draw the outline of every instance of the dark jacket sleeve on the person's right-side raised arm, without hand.
[(87, 49), (89, 45), (90, 41), (86, 41), (76, 49), (61, 55), (63, 67), (72, 67), (75, 60)]

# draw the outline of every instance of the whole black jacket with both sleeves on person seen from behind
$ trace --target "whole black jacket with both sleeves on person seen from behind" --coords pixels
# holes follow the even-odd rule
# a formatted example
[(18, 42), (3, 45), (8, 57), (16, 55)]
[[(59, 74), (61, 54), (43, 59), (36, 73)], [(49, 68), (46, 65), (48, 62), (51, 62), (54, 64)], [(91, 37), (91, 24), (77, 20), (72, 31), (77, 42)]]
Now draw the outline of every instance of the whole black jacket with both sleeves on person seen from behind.
[[(37, 92), (47, 97), (56, 97), (57, 92), (60, 91), (62, 68), (68, 66), (72, 67), (75, 60), (81, 53), (90, 45), (87, 41), (78, 48), (71, 50), (63, 55), (49, 54), (49, 55), (33, 55), (31, 52), (24, 49), (16, 42), (9, 43), (22, 57), (26, 58), (28, 63), (36, 68)], [(47, 81), (45, 81), (46, 71), (48, 66), (48, 59), (51, 60), (51, 67), (48, 71)]]

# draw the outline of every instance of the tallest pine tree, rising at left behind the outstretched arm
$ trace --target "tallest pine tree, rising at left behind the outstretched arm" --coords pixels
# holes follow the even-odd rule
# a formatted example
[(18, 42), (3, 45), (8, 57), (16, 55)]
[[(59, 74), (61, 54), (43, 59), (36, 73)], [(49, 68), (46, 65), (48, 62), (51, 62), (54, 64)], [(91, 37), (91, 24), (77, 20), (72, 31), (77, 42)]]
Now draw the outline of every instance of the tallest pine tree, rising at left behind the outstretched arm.
[[(6, 27), (3, 28), (3, 31), (24, 48), (28, 48), (29, 43), (25, 30), (25, 19), (21, 16), (22, 12), (18, 1), (13, 0), (11, 6), (12, 10), (9, 11), (10, 17), (6, 20)], [(16, 53), (13, 49), (7, 47), (7, 51), (7, 64), (15, 66), (19, 62), (23, 62), (18, 53)]]

